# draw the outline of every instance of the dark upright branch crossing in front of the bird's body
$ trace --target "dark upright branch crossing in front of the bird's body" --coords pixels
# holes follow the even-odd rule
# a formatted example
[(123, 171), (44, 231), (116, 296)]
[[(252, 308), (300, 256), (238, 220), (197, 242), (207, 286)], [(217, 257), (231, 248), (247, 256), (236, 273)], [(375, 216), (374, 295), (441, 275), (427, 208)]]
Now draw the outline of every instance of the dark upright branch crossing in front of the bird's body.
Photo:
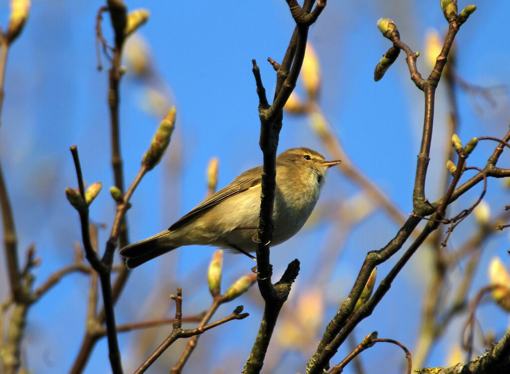
[[(299, 272), (299, 261), (291, 262), (282, 279), (273, 285), (271, 283), (272, 266), (269, 261), (269, 247), (273, 231), (273, 207), (276, 189), (276, 149), (278, 147), (279, 133), (282, 129), (283, 108), (290, 94), (296, 86), (301, 70), (304, 52), (307, 45), (308, 30), (326, 5), (319, 0), (315, 9), (310, 12), (313, 0), (307, 0), (301, 8), (296, 0), (287, 0), (296, 28), (289, 42), (282, 65), (277, 68), (276, 90), (274, 101), (269, 106), (265, 94), (260, 70), (253, 60), (253, 74), (257, 83), (259, 95), (259, 117), (261, 121), (261, 147), (264, 164), (262, 170), (261, 209), (257, 237), (258, 284), (265, 301), (264, 315), (259, 328), (256, 341), (246, 361), (243, 373), (258, 373), (262, 369), (264, 358), (269, 346), (276, 319), (289, 296), (291, 285)], [(273, 63), (273, 66), (276, 64)]]

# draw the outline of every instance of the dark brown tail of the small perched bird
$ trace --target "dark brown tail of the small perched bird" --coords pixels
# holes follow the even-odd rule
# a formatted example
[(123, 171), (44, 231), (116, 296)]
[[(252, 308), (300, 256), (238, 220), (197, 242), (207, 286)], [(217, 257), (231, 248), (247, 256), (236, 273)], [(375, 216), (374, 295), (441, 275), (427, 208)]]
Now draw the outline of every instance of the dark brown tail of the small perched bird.
[(177, 248), (168, 245), (166, 235), (168, 235), (168, 230), (123, 247), (119, 253), (120, 256), (126, 259), (127, 268), (133, 269)]

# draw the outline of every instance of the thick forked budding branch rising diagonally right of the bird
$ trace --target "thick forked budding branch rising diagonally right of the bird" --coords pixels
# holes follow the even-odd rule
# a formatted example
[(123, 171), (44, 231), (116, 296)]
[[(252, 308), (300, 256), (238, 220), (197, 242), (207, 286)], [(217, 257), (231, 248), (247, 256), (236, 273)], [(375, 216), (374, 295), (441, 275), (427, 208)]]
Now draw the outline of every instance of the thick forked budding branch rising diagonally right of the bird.
[[(308, 366), (308, 370), (310, 373), (319, 373), (324, 368), (327, 368), (329, 360), (337, 352), (338, 347), (343, 343), (347, 335), (354, 329), (354, 327), (362, 319), (364, 319), (365, 317), (372, 313), (373, 308), (386, 294), (389, 287), (391, 286), (392, 281), (398, 275), (399, 271), (403, 268), (405, 263), (411, 258), (411, 256), (413, 256), (418, 247), (421, 246), (421, 244), (430, 235), (430, 233), (432, 233), (439, 227), (440, 220), (443, 220), (445, 217), (447, 206), (451, 204), (456, 198), (458, 198), (458, 196), (460, 195), (460, 191), (462, 191), (462, 193), (466, 192), (467, 189), (464, 189), (464, 186), (466, 186), (466, 184), (469, 184), (469, 188), (471, 188), (475, 184), (479, 183), (481, 180), (486, 181), (487, 177), (490, 176), (490, 174), (492, 174), (491, 176), (496, 175), (496, 173), (493, 173), (493, 171), (495, 167), (495, 161), (497, 161), (497, 158), (500, 155), (500, 151), (498, 151), (499, 146), (496, 148), (495, 151), (495, 153), (498, 153), (497, 156), (492, 159), (494, 162), (491, 164), (490, 158), (488, 166), (486, 166), (486, 168), (484, 168), (483, 170), (479, 169), (480, 172), (476, 176), (475, 183), (473, 182), (470, 183), (468, 181), (464, 185), (457, 187), (457, 184), (462, 176), (462, 172), (464, 171), (465, 159), (467, 158), (469, 153), (472, 152), (472, 149), (476, 145), (476, 142), (473, 142), (473, 144), (470, 143), (469, 148), (463, 148), (461, 151), (457, 151), (459, 154), (459, 160), (456, 165), (456, 169), (453, 170), (454, 178), (450, 183), (450, 186), (445, 196), (435, 204), (428, 203), (424, 196), (425, 178), (427, 174), (427, 166), (432, 136), (434, 93), (446, 63), (446, 56), (448, 55), (456, 32), (458, 31), (458, 26), (460, 26), (460, 22), (457, 21), (458, 18), (455, 19), (451, 18), (449, 32), (445, 37), (441, 54), (438, 57), (435, 68), (432, 70), (429, 78), (427, 78), (426, 80), (423, 80), (421, 78), (421, 75), (416, 69), (416, 58), (418, 57), (418, 54), (413, 53), (411, 48), (407, 47), (404, 43), (400, 41), (400, 34), (395, 24), (389, 19), (379, 20), (378, 22), (378, 27), (383, 33), (383, 35), (392, 40), (395, 47), (403, 49), (404, 52), (406, 53), (407, 62), (411, 71), (411, 78), (416, 83), (416, 85), (424, 91), (425, 94), (425, 114), (423, 127), (424, 130), (420, 155), (418, 156), (417, 174), (415, 179), (415, 191), (413, 194), (415, 210), (412, 216), (406, 221), (405, 225), (399, 230), (395, 238), (392, 239), (386, 247), (382, 248), (379, 251), (373, 251), (368, 253), (365, 262), (360, 270), (359, 276), (356, 279), (354, 286), (351, 289), (351, 292), (349, 293), (349, 296), (342, 304), (337, 315), (330, 321), (329, 325), (326, 328), (326, 332), (324, 333), (324, 336), (321, 342), (319, 343), (316, 354), (310, 360)], [(506, 170), (499, 169), (498, 173), (506, 174)], [(398, 252), (403, 243), (405, 242), (405, 240), (409, 238), (409, 236), (411, 235), (412, 231), (415, 229), (419, 221), (429, 214), (432, 214), (432, 219), (430, 219), (427, 222), (427, 225), (422, 230), (418, 238), (414, 241), (414, 243), (404, 253), (404, 255), (400, 258), (397, 264), (388, 273), (388, 276), (380, 283), (374, 295), (370, 298), (368, 302), (366, 302), (358, 310), (358, 312), (353, 312), (354, 305), (359, 300), (363, 286), (366, 284), (368, 280), (369, 272), (372, 271), (375, 265), (388, 260), (391, 256)]]

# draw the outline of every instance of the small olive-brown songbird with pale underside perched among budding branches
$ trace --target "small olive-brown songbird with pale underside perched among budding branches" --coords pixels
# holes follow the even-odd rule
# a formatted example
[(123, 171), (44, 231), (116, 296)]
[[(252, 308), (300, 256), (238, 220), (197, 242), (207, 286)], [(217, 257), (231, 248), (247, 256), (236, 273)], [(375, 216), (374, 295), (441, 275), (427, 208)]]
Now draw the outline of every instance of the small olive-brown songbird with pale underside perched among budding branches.
[[(307, 221), (324, 185), (326, 170), (340, 161), (326, 161), (309, 148), (291, 148), (276, 157), (276, 195), (271, 246), (296, 234)], [(132, 269), (183, 245), (213, 245), (242, 252), (257, 250), (262, 166), (249, 169), (166, 231), (120, 250)], [(252, 256), (250, 256), (252, 257)], [(253, 257), (252, 257), (253, 258)]]

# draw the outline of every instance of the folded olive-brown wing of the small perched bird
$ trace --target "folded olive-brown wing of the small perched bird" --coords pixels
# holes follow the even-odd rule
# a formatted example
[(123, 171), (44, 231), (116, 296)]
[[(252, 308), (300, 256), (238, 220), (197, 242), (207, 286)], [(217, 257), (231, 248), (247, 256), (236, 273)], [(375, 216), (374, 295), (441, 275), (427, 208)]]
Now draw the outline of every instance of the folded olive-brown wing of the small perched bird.
[(262, 166), (254, 167), (248, 171), (240, 174), (234, 181), (222, 188), (215, 194), (211, 195), (205, 201), (203, 201), (200, 205), (193, 208), (189, 213), (185, 216), (181, 217), (178, 221), (176, 221), (168, 230), (176, 230), (187, 223), (190, 219), (192, 219), (197, 213), (203, 212), (209, 208), (214, 207), (216, 204), (221, 203), (223, 200), (226, 200), (228, 197), (236, 195), (240, 192), (246, 191), (250, 187), (256, 186), (261, 183), (261, 174), (262, 174)]

